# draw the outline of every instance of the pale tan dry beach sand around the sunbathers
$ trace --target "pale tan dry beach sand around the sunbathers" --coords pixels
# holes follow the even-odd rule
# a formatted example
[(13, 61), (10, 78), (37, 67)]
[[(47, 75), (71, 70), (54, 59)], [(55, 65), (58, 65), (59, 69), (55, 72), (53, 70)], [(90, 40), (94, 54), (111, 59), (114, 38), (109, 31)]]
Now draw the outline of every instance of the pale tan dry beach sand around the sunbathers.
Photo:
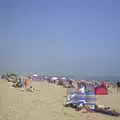
[[(0, 120), (120, 120), (98, 113), (81, 113), (63, 107), (66, 89), (33, 83), (34, 93), (11, 88), (0, 80)], [(120, 110), (120, 94), (98, 96), (98, 103)]]

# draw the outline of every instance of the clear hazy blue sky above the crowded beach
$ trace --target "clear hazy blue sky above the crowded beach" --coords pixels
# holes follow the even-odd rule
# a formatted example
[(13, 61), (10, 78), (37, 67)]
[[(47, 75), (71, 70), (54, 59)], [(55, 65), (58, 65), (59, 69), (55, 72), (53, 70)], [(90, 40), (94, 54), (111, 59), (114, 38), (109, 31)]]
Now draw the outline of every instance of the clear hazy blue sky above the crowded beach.
[(120, 75), (119, 0), (0, 0), (0, 72)]

